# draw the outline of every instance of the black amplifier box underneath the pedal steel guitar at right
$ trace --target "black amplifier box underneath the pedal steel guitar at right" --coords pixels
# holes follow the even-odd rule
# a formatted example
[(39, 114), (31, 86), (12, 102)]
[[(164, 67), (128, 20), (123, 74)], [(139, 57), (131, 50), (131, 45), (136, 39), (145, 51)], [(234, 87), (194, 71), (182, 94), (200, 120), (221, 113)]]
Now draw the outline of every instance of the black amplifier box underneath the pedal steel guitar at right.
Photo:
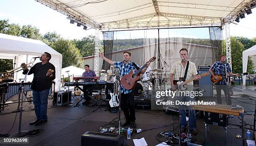
[(204, 122), (215, 126), (228, 127), (228, 115), (204, 111)]

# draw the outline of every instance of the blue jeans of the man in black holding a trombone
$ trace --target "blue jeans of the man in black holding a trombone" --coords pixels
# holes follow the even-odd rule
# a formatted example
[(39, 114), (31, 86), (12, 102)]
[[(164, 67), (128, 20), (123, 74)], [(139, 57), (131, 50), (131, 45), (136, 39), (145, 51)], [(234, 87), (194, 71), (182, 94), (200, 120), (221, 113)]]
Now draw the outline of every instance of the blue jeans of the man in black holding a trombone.
[(43, 91), (33, 90), (33, 104), (35, 106), (36, 118), (39, 120), (47, 120), (49, 89)]

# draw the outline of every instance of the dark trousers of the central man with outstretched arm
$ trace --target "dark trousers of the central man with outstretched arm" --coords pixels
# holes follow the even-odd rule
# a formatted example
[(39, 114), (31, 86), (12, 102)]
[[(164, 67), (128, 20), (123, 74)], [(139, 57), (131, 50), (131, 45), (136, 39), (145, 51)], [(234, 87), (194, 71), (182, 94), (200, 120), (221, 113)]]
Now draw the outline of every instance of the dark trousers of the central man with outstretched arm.
[(121, 93), (121, 106), (125, 115), (125, 121), (135, 121), (134, 92)]

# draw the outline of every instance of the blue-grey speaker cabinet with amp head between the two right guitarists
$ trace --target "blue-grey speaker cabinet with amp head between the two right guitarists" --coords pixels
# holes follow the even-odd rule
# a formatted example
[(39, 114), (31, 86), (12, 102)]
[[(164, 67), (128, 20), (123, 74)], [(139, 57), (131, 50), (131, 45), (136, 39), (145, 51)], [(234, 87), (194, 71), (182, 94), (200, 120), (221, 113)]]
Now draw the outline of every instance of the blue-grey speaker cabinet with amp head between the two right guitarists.
[(212, 97), (213, 96), (213, 88), (212, 81), (210, 78), (209, 70), (199, 70), (199, 74), (201, 73), (209, 73), (209, 76), (201, 77), (201, 80), (198, 81), (200, 90), (203, 91), (203, 97)]

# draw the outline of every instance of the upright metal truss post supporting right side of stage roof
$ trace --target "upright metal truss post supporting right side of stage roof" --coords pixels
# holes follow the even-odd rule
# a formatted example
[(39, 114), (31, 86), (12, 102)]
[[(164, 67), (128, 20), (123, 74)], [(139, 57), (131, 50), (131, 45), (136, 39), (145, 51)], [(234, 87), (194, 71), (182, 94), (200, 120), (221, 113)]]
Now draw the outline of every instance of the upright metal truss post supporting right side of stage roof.
[(225, 23), (225, 33), (226, 33), (226, 60), (227, 60), (227, 63), (230, 65), (230, 68), (232, 70), (229, 23)]

